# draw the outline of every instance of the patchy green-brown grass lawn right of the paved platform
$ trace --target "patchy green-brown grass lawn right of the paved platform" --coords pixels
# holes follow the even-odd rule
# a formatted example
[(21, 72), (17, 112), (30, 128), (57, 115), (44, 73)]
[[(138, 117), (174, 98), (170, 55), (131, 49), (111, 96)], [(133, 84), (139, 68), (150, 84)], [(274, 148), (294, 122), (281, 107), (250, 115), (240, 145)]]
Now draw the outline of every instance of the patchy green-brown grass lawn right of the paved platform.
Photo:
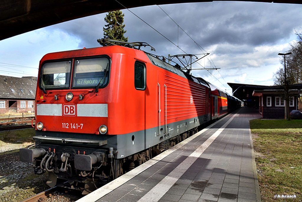
[[(302, 201), (302, 120), (250, 121), (262, 201)], [(274, 199), (275, 195), (296, 199)]]

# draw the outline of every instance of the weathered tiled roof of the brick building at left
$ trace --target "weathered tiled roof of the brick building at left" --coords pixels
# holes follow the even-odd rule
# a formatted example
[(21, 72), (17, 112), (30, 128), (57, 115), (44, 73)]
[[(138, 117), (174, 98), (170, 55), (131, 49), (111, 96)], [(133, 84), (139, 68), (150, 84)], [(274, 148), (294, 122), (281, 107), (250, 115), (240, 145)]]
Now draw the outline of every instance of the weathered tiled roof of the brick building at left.
[(0, 75), (0, 99), (35, 99), (36, 87), (36, 77)]

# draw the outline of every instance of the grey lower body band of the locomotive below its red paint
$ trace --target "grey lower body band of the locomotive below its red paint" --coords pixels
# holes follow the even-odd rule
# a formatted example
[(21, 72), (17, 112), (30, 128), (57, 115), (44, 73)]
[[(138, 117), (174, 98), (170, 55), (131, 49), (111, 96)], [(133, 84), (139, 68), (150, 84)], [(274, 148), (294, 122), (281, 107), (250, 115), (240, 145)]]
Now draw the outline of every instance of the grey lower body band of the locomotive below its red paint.
[(51, 144), (72, 148), (89, 147), (95, 149), (109, 149), (113, 147), (114, 150), (118, 151), (114, 158), (120, 159), (144, 151), (169, 138), (196, 128), (210, 121), (210, 117), (210, 114), (208, 114), (123, 135), (36, 131), (34, 139), (42, 145)]

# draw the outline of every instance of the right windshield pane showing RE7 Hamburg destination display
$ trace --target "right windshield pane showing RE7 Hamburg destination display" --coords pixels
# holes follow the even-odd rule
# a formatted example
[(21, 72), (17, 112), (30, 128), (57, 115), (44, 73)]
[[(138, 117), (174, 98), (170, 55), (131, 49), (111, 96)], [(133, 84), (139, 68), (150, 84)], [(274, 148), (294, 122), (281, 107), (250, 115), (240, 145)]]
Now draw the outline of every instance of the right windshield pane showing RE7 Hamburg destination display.
[(107, 57), (75, 60), (72, 87), (104, 87), (108, 83), (109, 59)]

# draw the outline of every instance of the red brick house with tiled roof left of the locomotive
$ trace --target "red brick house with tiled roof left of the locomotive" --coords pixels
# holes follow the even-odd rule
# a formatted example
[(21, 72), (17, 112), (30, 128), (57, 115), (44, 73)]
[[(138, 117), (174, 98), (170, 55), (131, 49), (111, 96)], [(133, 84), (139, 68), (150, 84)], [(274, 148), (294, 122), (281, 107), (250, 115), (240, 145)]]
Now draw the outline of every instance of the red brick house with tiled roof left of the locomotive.
[(37, 77), (0, 75), (0, 114), (34, 113)]

